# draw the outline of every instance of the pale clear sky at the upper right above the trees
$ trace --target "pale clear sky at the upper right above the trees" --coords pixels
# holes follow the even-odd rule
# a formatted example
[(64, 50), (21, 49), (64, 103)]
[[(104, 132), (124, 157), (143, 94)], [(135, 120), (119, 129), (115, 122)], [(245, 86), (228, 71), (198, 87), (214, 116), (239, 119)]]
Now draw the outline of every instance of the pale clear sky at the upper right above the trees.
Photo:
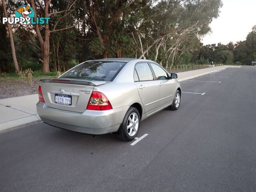
[(222, 3), (220, 16), (210, 24), (212, 32), (202, 38), (204, 45), (246, 40), (256, 25), (256, 0), (222, 0)]

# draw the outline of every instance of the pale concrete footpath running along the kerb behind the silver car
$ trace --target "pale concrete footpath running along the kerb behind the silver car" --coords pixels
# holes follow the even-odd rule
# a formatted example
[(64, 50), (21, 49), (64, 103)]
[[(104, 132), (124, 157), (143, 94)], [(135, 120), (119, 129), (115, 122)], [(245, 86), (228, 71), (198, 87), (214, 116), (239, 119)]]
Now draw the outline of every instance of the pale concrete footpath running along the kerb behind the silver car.
[[(201, 75), (223, 70), (227, 67), (232, 66), (218, 66), (180, 72), (177, 73), (178, 80), (182, 82)], [(38, 94), (0, 99), (0, 131), (41, 121), (36, 112), (37, 102)]]

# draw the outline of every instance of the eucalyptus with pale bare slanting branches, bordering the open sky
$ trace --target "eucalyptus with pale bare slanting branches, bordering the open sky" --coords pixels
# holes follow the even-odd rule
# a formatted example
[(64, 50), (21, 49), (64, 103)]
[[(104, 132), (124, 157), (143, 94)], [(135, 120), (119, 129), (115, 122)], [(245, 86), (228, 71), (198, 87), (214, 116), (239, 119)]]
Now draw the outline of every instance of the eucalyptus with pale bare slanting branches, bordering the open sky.
[[(164, 60), (167, 68), (169, 59), (173, 64), (178, 53), (180, 56), (188, 48), (190, 40), (200, 38), (210, 31), (209, 24), (213, 18), (218, 17), (221, 6), (220, 0), (162, 0), (156, 3), (147, 19), (150, 26), (138, 34), (143, 37), (144, 46), (139, 58), (144, 58), (155, 47), (151, 51), (151, 59)], [(145, 22), (139, 23), (143, 26)]]

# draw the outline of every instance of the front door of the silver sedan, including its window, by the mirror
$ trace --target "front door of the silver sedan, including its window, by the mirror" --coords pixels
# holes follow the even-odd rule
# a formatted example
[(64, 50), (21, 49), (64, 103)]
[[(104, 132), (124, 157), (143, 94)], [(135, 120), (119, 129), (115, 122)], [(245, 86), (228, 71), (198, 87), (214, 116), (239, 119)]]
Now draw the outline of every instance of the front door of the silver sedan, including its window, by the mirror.
[(159, 107), (170, 104), (174, 98), (174, 80), (168, 79), (167, 72), (158, 64), (150, 63), (156, 76), (156, 82), (160, 87), (159, 90)]

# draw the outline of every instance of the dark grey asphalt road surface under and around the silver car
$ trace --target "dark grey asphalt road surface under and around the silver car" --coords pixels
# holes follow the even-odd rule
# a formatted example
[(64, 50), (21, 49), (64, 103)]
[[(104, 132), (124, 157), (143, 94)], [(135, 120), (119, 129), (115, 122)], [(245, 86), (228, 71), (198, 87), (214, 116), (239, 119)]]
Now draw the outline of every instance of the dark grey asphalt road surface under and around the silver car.
[(182, 91), (201, 94), (143, 121), (134, 146), (43, 123), (1, 133), (0, 191), (256, 191), (256, 68), (192, 80)]

